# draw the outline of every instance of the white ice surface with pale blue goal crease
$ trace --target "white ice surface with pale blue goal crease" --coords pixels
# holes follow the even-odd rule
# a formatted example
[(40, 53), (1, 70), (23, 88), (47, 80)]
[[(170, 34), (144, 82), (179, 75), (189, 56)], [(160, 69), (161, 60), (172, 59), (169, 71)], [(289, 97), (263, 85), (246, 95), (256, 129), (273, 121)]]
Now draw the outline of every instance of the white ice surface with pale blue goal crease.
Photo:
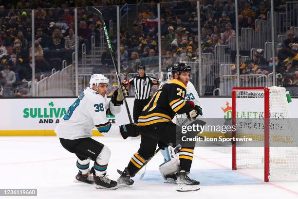
[[(140, 139), (94, 137), (112, 150), (109, 178), (123, 170), (137, 151)], [(93, 185), (73, 182), (77, 174), (75, 154), (64, 149), (57, 137), (0, 137), (0, 188), (37, 188), (42, 199), (298, 199), (298, 182), (263, 182), (263, 170), (231, 170), (230, 148), (196, 148), (191, 177), (201, 190), (176, 192), (164, 184), (158, 166), (160, 153), (147, 165), (143, 180), (134, 177), (130, 187), (99, 190)], [(91, 162), (93, 165), (93, 162)], [(9, 197), (9, 199), (16, 197)], [(26, 197), (28, 198), (28, 197)], [(19, 199), (19, 197), (18, 197)]]

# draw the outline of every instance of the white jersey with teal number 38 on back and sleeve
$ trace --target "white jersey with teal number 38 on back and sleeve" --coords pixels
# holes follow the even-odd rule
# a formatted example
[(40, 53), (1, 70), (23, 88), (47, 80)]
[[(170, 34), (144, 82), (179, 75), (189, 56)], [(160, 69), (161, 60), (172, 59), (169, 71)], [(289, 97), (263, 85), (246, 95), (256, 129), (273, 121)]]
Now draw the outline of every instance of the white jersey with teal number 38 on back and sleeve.
[(108, 132), (112, 124), (106, 115), (116, 115), (120, 110), (121, 106), (107, 101), (107, 95), (104, 98), (87, 87), (60, 118), (55, 133), (60, 138), (73, 140), (92, 137), (94, 126), (100, 133)]

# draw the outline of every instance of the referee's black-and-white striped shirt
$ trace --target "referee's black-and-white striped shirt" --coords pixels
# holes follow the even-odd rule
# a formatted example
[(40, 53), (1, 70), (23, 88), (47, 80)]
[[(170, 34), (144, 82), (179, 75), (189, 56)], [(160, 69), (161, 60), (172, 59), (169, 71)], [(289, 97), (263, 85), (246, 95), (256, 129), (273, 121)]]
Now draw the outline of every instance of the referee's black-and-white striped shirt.
[(134, 85), (135, 99), (148, 99), (152, 85), (158, 84), (153, 83), (152, 80), (158, 81), (155, 77), (147, 76), (146, 74), (144, 77), (132, 76), (126, 80), (126, 85)]

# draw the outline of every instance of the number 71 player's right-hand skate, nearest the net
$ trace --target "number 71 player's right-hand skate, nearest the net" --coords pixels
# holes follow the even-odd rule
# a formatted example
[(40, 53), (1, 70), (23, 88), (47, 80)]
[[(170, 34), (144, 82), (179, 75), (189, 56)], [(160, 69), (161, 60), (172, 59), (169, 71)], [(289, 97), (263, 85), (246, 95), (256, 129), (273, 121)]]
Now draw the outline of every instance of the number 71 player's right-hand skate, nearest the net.
[(177, 191), (197, 191), (200, 190), (200, 182), (189, 177), (189, 172), (180, 171), (177, 176)]

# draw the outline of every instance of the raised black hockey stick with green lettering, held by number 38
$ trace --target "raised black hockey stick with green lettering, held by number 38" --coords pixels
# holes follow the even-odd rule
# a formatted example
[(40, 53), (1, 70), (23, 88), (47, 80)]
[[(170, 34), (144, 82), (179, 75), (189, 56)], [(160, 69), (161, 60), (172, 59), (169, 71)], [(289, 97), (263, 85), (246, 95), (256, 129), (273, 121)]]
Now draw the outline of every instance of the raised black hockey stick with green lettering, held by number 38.
[[(116, 67), (116, 64), (115, 64), (116, 63), (115, 62), (115, 56), (114, 56), (112, 45), (111, 45), (111, 42), (110, 42), (110, 37), (109, 37), (109, 34), (108, 34), (108, 30), (107, 30), (105, 21), (102, 17), (102, 13), (97, 8), (94, 8), (93, 6), (87, 6), (87, 11), (88, 12), (93, 12), (93, 14), (96, 14), (96, 15), (99, 16), (99, 19), (100, 19), (100, 21), (103, 25), (104, 31), (105, 31), (105, 36), (106, 36), (107, 43), (108, 43), (108, 46), (109, 46), (109, 49), (110, 49), (110, 54), (111, 54), (111, 57), (112, 57), (113, 65), (115, 67), (117, 78), (119, 80), (119, 86), (121, 86), (122, 85), (121, 79), (120, 79), (120, 76), (119, 76), (118, 68)], [(122, 88), (122, 86), (121, 86), (121, 88)], [(131, 116), (130, 116), (130, 109), (128, 107), (128, 104), (127, 104), (126, 97), (125, 97), (123, 89), (121, 89), (121, 91), (122, 91), (122, 94), (123, 94), (123, 99), (124, 99), (125, 107), (126, 107), (126, 110), (127, 110), (127, 114), (129, 116), (129, 119), (130, 119), (130, 124), (132, 124), (133, 122), (132, 122), (132, 119), (131, 119)]]

